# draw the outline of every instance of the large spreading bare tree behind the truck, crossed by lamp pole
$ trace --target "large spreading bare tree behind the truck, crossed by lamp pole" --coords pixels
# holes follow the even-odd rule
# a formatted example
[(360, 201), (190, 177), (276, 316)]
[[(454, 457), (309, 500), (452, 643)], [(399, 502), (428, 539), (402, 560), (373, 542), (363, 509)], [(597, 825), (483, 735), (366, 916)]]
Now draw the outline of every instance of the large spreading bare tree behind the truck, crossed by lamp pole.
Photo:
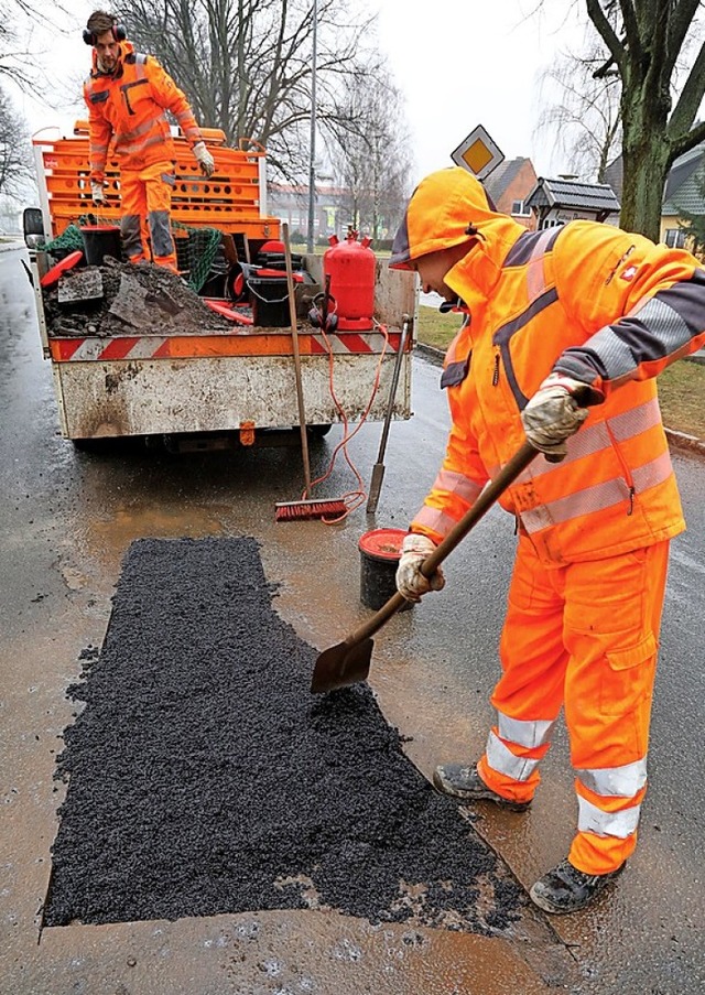
[[(370, 19), (318, 0), (317, 118), (335, 117), (345, 79), (370, 62)], [(306, 173), (313, 7), (310, 0), (129, 0), (120, 18), (187, 94), (199, 122), (268, 149), (288, 180)], [(370, 69), (373, 68), (373, 63)]]

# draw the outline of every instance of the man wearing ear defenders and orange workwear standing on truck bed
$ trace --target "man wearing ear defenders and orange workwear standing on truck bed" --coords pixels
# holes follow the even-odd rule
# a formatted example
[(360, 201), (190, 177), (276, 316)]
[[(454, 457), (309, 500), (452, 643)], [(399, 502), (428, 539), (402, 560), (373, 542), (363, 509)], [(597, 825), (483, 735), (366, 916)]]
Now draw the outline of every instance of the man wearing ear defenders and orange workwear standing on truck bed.
[(120, 161), (121, 236), (131, 262), (152, 260), (176, 272), (170, 213), (175, 182), (171, 111), (206, 176), (213, 155), (184, 94), (151, 55), (134, 51), (112, 14), (88, 18), (84, 41), (93, 46), (93, 69), (84, 84), (90, 137), (93, 199), (105, 201), (108, 148)]

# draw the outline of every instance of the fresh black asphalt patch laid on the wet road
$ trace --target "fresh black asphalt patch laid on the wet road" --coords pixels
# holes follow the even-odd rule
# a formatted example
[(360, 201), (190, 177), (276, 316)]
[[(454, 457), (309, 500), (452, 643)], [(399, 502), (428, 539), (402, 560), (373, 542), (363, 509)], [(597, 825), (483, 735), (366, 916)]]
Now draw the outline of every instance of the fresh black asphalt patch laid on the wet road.
[(310, 693), (316, 650), (274, 595), (253, 539), (131, 545), (69, 689), (43, 924), (329, 908), (508, 928), (521, 887), (367, 684)]

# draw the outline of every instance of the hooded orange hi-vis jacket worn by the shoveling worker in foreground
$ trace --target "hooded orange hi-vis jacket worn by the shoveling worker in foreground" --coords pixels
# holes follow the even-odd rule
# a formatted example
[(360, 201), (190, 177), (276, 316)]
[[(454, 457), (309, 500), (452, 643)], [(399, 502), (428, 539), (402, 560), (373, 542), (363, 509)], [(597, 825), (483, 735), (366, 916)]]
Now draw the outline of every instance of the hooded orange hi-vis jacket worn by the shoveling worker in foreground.
[(527, 231), (459, 167), (427, 181), (390, 266), (467, 241), (445, 282), (468, 317), (444, 364), (445, 458), (411, 530), (435, 542), (448, 533), (525, 441), (520, 412), (555, 370), (605, 401), (563, 462), (539, 456), (501, 498), (540, 560), (596, 560), (676, 536), (685, 524), (653, 378), (705, 342), (697, 260), (593, 221)]

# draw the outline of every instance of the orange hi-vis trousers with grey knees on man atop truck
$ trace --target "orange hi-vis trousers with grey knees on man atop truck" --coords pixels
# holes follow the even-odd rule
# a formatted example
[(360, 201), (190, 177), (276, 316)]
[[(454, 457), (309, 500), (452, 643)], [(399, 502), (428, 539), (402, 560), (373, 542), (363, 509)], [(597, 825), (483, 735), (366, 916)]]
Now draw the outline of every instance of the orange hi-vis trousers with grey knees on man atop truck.
[(143, 170), (121, 171), (120, 232), (130, 262), (153, 261), (177, 272), (176, 248), (170, 225), (174, 182), (172, 162), (156, 162)]

